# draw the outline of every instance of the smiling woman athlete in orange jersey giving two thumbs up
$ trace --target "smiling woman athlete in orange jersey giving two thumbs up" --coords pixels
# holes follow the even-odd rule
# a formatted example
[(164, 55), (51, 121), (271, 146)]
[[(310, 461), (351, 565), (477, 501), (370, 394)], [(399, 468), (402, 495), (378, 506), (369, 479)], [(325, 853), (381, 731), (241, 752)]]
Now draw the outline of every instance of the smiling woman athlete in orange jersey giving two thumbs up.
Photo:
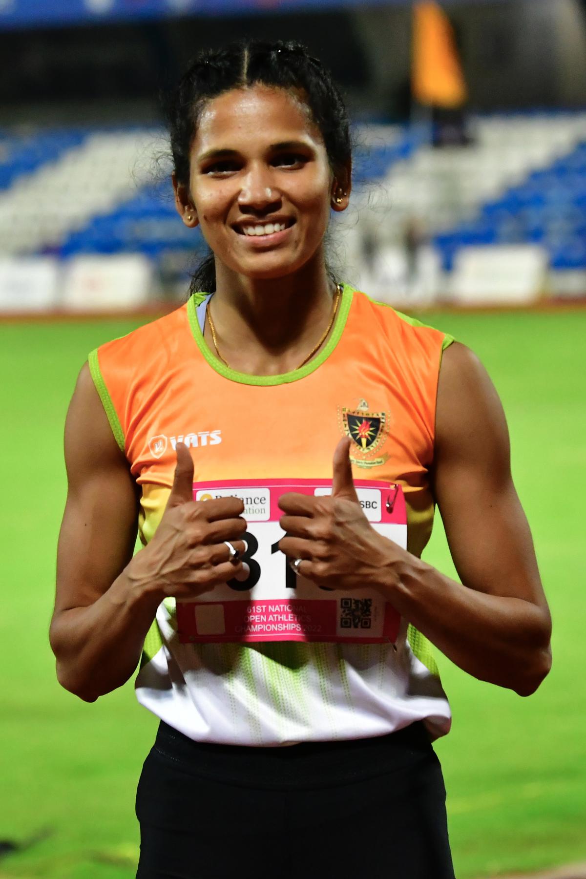
[[(212, 257), (79, 375), (58, 678), (95, 701), (142, 656), (144, 879), (447, 879), (430, 643), (521, 695), (551, 661), (501, 403), (464, 345), (330, 276), (349, 127), (303, 47), (201, 54), (169, 120)], [(436, 503), (462, 585), (420, 558)]]

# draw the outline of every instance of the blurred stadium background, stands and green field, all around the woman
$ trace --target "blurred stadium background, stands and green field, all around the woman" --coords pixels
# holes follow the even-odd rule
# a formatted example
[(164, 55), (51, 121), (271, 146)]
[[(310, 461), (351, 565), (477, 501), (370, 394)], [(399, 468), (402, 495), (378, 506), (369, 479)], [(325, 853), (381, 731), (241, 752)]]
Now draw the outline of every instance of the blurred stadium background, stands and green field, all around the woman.
[[(175, 213), (157, 92), (243, 36), (302, 40), (348, 98), (333, 265), (473, 347), (509, 417), (555, 662), (523, 701), (441, 661), (457, 875), (586, 861), (586, 2), (0, 0), (0, 877), (134, 875), (155, 721), (130, 685), (62, 692), (47, 644), (62, 425), (87, 352), (184, 301), (205, 243)], [(439, 519), (426, 558), (455, 576)]]

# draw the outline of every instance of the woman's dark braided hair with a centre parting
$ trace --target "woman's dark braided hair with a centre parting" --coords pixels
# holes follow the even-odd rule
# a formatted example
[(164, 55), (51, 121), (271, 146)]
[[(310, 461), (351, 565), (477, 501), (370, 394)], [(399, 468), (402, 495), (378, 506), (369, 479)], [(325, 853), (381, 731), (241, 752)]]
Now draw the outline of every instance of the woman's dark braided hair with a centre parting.
[[(332, 171), (351, 160), (348, 112), (329, 70), (295, 41), (250, 40), (221, 49), (205, 49), (193, 60), (177, 88), (165, 100), (170, 148), (177, 183), (189, 185), (190, 151), (206, 103), (224, 91), (253, 84), (274, 86), (300, 95), (319, 128)], [(190, 294), (215, 290), (213, 253), (192, 276)]]

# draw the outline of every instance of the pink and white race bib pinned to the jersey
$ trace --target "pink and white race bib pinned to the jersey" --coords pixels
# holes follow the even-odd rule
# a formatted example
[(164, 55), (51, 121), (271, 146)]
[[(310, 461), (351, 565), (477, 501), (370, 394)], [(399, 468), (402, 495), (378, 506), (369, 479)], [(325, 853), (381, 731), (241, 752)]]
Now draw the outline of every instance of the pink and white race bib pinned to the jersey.
[[(402, 488), (394, 483), (355, 483), (373, 528), (407, 548), (407, 514)], [(324, 479), (265, 479), (194, 483), (193, 499), (241, 498), (248, 523), (244, 560), (250, 576), (230, 580), (192, 601), (177, 601), (182, 643), (255, 641), (396, 641), (400, 616), (371, 589), (322, 589), (300, 577), (279, 549), (285, 532), (279, 498), (289, 491), (331, 494)]]

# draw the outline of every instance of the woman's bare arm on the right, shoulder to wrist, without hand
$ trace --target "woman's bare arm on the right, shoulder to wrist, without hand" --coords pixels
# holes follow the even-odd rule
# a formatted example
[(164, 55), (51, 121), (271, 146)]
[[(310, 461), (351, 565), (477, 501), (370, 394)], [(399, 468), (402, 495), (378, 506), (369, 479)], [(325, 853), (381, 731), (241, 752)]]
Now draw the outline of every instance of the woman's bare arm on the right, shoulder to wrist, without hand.
[(395, 568), (395, 607), (476, 678), (533, 693), (551, 665), (551, 618), (510, 474), (503, 407), (464, 345), (444, 353), (435, 494), (463, 585), (414, 556)]

